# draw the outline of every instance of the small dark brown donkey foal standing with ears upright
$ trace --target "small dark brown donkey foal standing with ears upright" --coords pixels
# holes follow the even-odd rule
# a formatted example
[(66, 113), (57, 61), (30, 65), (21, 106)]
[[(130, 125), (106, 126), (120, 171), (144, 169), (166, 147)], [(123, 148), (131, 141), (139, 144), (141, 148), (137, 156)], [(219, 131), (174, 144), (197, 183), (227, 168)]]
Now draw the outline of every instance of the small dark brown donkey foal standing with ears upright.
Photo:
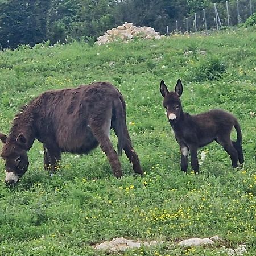
[[(240, 125), (234, 115), (221, 109), (213, 109), (198, 115), (184, 113), (180, 96), (183, 86), (177, 81), (174, 92), (169, 92), (164, 81), (161, 81), (160, 92), (164, 97), (163, 106), (166, 108), (167, 118), (174, 130), (175, 138), (181, 151), (181, 170), (187, 172), (188, 153), (191, 154), (191, 166), (199, 172), (197, 150), (215, 140), (221, 144), (230, 155), (232, 166), (237, 167), (237, 160), (243, 163), (242, 134)], [(237, 131), (237, 141), (230, 140), (233, 126)]]

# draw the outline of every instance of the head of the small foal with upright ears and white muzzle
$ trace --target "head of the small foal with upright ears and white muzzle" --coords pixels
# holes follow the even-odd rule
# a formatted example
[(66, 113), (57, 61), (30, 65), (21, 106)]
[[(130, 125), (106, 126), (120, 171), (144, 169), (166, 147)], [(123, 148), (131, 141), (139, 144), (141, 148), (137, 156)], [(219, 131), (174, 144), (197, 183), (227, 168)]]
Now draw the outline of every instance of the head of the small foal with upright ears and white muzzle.
[(160, 84), (160, 92), (163, 99), (163, 106), (166, 108), (166, 114), (169, 122), (175, 123), (179, 117), (182, 110), (180, 96), (182, 94), (182, 84), (181, 81), (177, 81), (177, 85), (175, 86), (175, 92), (169, 92), (167, 86), (164, 84), (164, 81), (161, 81)]

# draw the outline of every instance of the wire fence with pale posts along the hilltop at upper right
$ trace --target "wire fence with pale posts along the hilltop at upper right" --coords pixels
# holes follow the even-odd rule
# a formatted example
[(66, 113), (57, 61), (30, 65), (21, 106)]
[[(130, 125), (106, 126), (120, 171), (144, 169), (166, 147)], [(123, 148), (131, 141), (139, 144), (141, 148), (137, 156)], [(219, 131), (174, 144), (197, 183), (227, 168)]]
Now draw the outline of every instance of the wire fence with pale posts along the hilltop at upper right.
[(167, 34), (172, 32), (198, 32), (220, 30), (246, 21), (256, 10), (256, 0), (234, 0), (213, 3), (192, 16), (181, 18), (167, 25)]

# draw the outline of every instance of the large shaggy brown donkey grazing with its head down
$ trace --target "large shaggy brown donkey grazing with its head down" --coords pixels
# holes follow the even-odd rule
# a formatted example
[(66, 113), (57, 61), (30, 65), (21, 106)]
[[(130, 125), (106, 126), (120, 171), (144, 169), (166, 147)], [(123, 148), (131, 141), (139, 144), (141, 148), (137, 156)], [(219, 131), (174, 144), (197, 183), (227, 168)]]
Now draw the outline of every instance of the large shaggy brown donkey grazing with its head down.
[(8, 137), (0, 133), (6, 183), (16, 183), (27, 171), (27, 151), (35, 139), (43, 143), (46, 170), (55, 170), (61, 152), (86, 154), (100, 144), (114, 176), (121, 177), (121, 164), (109, 139), (111, 128), (118, 137), (118, 153), (124, 150), (134, 171), (143, 174), (126, 126), (125, 101), (117, 88), (94, 82), (42, 93), (16, 115)]

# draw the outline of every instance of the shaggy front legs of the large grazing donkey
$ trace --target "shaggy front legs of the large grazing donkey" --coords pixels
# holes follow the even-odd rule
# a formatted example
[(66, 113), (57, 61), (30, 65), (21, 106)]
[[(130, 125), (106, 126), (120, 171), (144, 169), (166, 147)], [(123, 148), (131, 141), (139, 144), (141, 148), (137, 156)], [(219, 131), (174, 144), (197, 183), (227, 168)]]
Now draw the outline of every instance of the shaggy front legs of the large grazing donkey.
[(44, 169), (46, 171), (55, 171), (60, 161), (60, 150), (53, 147), (47, 147), (44, 144)]

